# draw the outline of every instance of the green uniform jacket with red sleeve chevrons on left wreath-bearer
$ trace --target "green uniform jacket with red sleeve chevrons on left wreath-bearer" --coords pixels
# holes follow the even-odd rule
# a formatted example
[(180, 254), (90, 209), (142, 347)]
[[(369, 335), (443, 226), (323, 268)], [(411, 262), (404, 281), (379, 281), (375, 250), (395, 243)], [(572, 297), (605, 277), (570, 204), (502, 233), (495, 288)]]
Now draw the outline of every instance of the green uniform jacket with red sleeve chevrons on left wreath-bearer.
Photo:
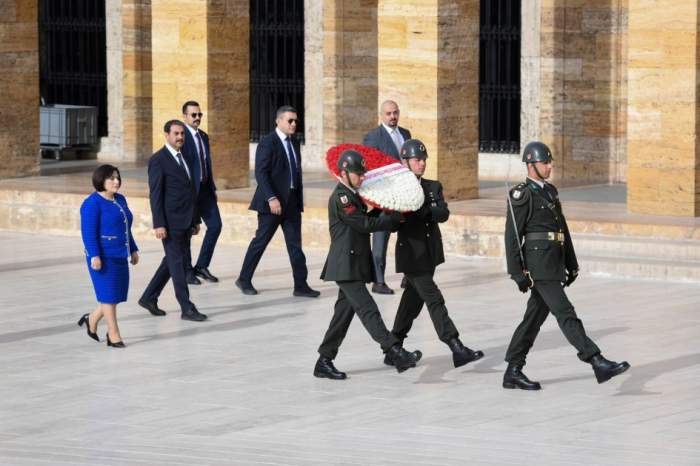
[(367, 215), (362, 199), (343, 183), (338, 183), (328, 199), (328, 229), (331, 249), (321, 272), (325, 281), (375, 281), (369, 234), (391, 231), (389, 216), (374, 218), (374, 209)]

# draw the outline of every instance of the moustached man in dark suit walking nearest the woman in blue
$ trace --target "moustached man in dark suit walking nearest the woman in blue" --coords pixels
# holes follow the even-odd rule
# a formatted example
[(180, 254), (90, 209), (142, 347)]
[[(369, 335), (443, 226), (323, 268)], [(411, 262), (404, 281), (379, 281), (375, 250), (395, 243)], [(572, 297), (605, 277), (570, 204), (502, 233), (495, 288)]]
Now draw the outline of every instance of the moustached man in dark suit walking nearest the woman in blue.
[(197, 190), (192, 182), (194, 164), (182, 152), (185, 124), (171, 120), (165, 124), (165, 146), (148, 159), (148, 187), (151, 215), (156, 238), (163, 242), (165, 257), (151, 282), (143, 292), (139, 305), (154, 316), (164, 316), (158, 308), (158, 297), (172, 277), (175, 297), (182, 310), (182, 319), (202, 321), (190, 301), (190, 290), (185, 278), (187, 238), (199, 233), (201, 219), (197, 211)]

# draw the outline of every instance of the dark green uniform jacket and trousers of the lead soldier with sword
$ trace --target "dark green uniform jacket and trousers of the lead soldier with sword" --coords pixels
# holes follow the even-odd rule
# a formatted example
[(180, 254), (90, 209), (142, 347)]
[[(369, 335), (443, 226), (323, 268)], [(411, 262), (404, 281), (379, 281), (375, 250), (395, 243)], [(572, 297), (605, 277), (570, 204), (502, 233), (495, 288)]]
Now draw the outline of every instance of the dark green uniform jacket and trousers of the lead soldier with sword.
[[(567, 271), (578, 270), (578, 262), (569, 236), (569, 227), (562, 213), (559, 193), (551, 184), (544, 183), (544, 186), (540, 186), (527, 178), (510, 191), (510, 200), (519, 237), (515, 233), (508, 206), (505, 229), (508, 273), (521, 274), (523, 267), (526, 267), (534, 286), (527, 302), (525, 317), (513, 334), (505, 360), (525, 365), (525, 358), (540, 327), (551, 312), (566, 339), (578, 350), (579, 359), (586, 361), (600, 353), (600, 350), (586, 336), (583, 323), (576, 316), (574, 306), (562, 287), (562, 283), (566, 282)], [(518, 249), (523, 236), (525, 264), (521, 265)]]

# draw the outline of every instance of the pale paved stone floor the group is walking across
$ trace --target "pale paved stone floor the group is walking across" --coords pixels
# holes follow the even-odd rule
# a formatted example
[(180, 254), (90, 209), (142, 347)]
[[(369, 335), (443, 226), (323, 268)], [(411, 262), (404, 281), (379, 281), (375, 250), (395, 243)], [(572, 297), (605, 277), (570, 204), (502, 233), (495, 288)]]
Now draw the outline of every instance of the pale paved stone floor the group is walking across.
[[(291, 296), (281, 250), (263, 257), (261, 294), (243, 296), (245, 251), (219, 247), (221, 282), (192, 290), (209, 320), (194, 323), (170, 286), (166, 317), (138, 307), (162, 257), (140, 247), (115, 350), (104, 323), (99, 344), (76, 325), (95, 304), (80, 240), (0, 233), (0, 464), (700, 464), (697, 286), (582, 274), (569, 294), (588, 333), (632, 369), (598, 385), (550, 318), (526, 371), (543, 389), (504, 390), (526, 298), (499, 261), (449, 257), (437, 282), (485, 358), (454, 369), (424, 311), (407, 340), (423, 360), (397, 374), (356, 320), (336, 360), (349, 378), (329, 381), (311, 374), (336, 294), (316, 278), (325, 254), (308, 256), (319, 299)], [(377, 301), (391, 322), (399, 295)]]

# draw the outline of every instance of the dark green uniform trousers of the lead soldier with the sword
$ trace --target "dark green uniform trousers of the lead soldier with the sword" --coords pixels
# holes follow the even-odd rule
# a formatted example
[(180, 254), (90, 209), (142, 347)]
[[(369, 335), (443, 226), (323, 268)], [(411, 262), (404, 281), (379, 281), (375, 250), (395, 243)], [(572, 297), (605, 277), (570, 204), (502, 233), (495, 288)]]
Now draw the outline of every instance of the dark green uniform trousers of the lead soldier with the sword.
[(506, 352), (506, 361), (525, 365), (530, 348), (535, 343), (535, 338), (540, 332), (540, 327), (547, 320), (549, 313), (557, 319), (559, 328), (569, 343), (578, 350), (578, 358), (581, 361), (588, 360), (591, 356), (600, 353), (600, 349), (588, 338), (583, 328), (583, 323), (576, 316), (574, 306), (567, 298), (561, 282), (558, 280), (536, 280), (535, 286), (530, 292), (527, 301), (525, 317), (520, 323), (510, 346)]

